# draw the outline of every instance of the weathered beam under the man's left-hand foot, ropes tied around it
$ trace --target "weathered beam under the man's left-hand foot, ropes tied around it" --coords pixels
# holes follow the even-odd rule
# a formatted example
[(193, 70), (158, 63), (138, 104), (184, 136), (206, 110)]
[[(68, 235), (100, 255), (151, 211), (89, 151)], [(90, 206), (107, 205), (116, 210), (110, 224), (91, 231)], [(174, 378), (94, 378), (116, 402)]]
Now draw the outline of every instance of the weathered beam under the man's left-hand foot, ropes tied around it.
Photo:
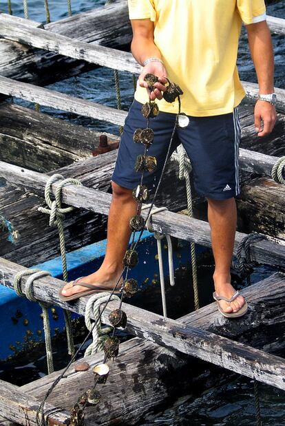
[[(25, 269), (0, 259), (1, 284), (13, 288), (14, 276)], [(22, 282), (22, 291), (25, 292), (26, 279), (23, 278)], [(75, 303), (65, 303), (59, 299), (58, 292), (64, 284), (64, 281), (52, 277), (38, 279), (33, 286), (34, 297), (84, 315), (86, 297)], [(116, 308), (118, 302), (109, 302), (103, 313), (103, 322), (109, 323), (108, 315)], [(131, 334), (285, 390), (284, 359), (127, 303), (123, 303), (122, 309), (127, 314), (127, 331)]]

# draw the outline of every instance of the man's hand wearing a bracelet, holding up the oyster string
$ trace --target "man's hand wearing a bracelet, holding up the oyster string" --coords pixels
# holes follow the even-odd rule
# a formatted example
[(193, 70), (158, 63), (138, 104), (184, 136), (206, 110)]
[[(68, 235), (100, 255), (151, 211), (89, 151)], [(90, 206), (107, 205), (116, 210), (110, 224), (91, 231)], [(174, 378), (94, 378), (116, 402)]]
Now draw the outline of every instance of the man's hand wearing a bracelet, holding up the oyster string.
[[(154, 89), (154, 91), (152, 92), (149, 92), (149, 85), (144, 80), (147, 74), (154, 74), (159, 79), (159, 83), (155, 83), (154, 85), (156, 89)], [(143, 67), (142, 73), (140, 74), (138, 78), (138, 84), (141, 87), (145, 87), (147, 89), (151, 100), (155, 100), (156, 98), (162, 99), (162, 92), (165, 92), (166, 90), (166, 87), (165, 87), (165, 83), (167, 83), (166, 77), (167, 77), (167, 72), (165, 70), (165, 67), (162, 65), (162, 63), (150, 62), (147, 65), (145, 65), (145, 67)]]

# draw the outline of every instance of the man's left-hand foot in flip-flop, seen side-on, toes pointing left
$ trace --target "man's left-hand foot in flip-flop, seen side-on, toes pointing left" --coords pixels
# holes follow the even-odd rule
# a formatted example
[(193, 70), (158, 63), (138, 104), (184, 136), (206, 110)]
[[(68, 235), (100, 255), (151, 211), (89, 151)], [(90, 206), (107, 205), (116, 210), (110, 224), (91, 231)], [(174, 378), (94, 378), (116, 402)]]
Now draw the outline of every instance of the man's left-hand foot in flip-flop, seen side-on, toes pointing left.
[[(116, 274), (104, 273), (103, 271), (99, 269), (95, 273), (91, 275), (87, 275), (87, 277), (83, 277), (79, 279), (78, 284), (75, 284), (75, 286), (72, 285), (72, 281), (67, 283), (63, 287), (63, 290), (61, 290), (61, 294), (65, 297), (69, 297), (69, 296), (81, 293), (83, 291), (86, 291), (87, 290), (86, 287), (81, 286), (80, 281), (83, 281), (84, 283), (87, 283), (87, 284), (93, 284), (94, 286), (96, 285), (103, 286), (103, 287), (106, 287), (106, 291), (108, 290), (111, 291), (116, 286), (118, 279), (120, 278), (120, 274), (121, 273), (116, 273)], [(123, 279), (121, 281), (123, 281)], [(118, 286), (116, 287), (116, 290), (120, 289), (120, 284), (121, 283), (118, 284)]]

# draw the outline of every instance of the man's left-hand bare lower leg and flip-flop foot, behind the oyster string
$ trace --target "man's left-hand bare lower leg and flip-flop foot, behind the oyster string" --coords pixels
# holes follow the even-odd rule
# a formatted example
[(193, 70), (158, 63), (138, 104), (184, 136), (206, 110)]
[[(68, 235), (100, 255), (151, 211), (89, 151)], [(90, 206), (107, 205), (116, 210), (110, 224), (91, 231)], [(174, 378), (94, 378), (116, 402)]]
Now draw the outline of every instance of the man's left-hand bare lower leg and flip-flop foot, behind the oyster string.
[[(123, 271), (123, 257), (127, 250), (131, 229), (129, 220), (136, 214), (136, 202), (131, 189), (120, 187), (112, 182), (113, 197), (107, 225), (107, 249), (101, 267), (95, 273), (84, 277), (82, 281), (114, 288)], [(78, 281), (80, 282), (80, 280)], [(70, 296), (85, 291), (86, 287), (67, 284), (62, 294)]]

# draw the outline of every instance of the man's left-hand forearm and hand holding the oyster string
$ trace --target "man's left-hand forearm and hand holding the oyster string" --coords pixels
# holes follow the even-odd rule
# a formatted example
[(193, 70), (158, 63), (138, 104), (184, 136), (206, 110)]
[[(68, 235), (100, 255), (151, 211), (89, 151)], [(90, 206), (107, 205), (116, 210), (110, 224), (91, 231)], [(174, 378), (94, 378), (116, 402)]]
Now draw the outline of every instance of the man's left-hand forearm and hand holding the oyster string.
[[(143, 65), (149, 58), (158, 58), (161, 60), (160, 50), (154, 43), (154, 23), (150, 19), (134, 19), (131, 20), (131, 27), (133, 29), (133, 40), (131, 41), (131, 53), (140, 65)], [(144, 81), (145, 75), (151, 73), (156, 75), (160, 83), (156, 83), (154, 92), (151, 92), (151, 100), (156, 98), (161, 99), (162, 93), (167, 83), (167, 71), (160, 62), (149, 62), (143, 67), (142, 72), (138, 78), (138, 83), (142, 87), (148, 88), (147, 82)]]

